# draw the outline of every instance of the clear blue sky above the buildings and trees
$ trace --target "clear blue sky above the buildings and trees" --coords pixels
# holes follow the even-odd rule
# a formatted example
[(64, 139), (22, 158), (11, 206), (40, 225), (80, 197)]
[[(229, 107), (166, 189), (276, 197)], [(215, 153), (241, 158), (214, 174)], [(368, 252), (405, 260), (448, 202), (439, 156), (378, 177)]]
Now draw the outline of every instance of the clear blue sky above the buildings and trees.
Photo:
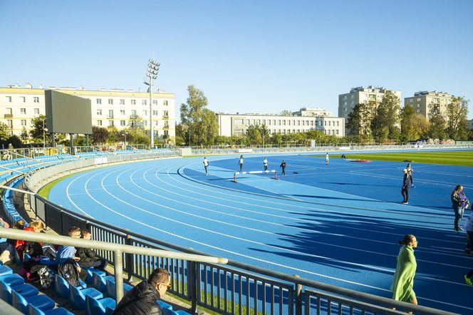
[[(355, 86), (473, 102), (473, 1), (0, 0), (0, 86), (201, 89), (209, 109), (337, 115)], [(469, 118), (473, 118), (470, 102)]]

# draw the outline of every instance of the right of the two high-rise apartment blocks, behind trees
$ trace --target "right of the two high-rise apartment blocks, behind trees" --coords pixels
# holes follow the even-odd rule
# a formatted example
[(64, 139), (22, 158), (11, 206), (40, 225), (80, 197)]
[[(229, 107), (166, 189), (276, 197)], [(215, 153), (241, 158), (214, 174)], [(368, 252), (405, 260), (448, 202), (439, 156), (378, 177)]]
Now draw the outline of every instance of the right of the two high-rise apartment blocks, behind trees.
[(404, 105), (410, 105), (415, 113), (430, 119), (432, 114), (440, 114), (446, 118), (447, 105), (452, 103), (453, 95), (436, 91), (420, 91), (414, 96), (404, 98)]

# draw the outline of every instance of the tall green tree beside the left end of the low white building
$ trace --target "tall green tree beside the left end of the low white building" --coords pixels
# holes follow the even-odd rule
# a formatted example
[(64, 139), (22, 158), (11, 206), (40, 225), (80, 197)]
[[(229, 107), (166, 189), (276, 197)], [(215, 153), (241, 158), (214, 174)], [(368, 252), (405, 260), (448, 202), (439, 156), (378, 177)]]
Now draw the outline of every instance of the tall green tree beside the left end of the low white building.
[(209, 145), (218, 135), (217, 116), (207, 109), (207, 98), (194, 86), (188, 86), (189, 96), (181, 104), (181, 124), (188, 145)]

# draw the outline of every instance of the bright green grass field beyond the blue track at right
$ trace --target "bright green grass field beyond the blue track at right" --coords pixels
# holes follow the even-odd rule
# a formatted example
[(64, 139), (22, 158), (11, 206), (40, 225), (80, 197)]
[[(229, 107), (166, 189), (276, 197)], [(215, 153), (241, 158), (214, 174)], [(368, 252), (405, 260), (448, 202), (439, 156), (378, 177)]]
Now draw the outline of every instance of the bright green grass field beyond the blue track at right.
[[(341, 153), (331, 153), (331, 158), (341, 158)], [(410, 160), (416, 163), (432, 163), (445, 165), (465, 165), (473, 166), (473, 150), (468, 151), (420, 151), (420, 152), (399, 152), (399, 153), (345, 153), (347, 159), (365, 159), (379, 161), (403, 162)], [(325, 155), (311, 155), (325, 156)]]

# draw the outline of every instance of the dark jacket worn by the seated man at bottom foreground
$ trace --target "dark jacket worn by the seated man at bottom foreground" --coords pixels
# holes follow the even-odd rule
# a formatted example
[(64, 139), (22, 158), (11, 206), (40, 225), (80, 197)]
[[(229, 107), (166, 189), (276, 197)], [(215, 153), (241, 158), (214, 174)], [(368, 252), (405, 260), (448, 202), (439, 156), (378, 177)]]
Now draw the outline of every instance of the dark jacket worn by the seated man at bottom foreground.
[(155, 287), (142, 281), (127, 292), (115, 307), (116, 315), (161, 315), (161, 306), (157, 304), (160, 292)]

